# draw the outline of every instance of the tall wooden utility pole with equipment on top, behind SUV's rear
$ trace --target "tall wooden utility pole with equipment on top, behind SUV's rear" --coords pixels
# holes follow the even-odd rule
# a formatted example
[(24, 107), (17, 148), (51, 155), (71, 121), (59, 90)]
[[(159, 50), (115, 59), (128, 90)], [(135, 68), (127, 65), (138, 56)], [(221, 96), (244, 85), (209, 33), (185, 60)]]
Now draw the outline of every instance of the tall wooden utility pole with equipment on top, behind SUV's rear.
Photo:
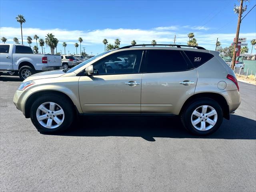
[(232, 58), (232, 65), (231, 68), (234, 70), (234, 66), (236, 63), (236, 51), (237, 51), (237, 44), (238, 44), (238, 38), (239, 38), (239, 31), (240, 31), (240, 24), (241, 24), (241, 18), (242, 18), (242, 13), (246, 11), (246, 7), (243, 7), (243, 3), (246, 0), (240, 0), (240, 6), (234, 7), (234, 12), (238, 14), (238, 22), (237, 22), (237, 28), (236, 28), (236, 38), (235, 38), (235, 44), (234, 44), (234, 52), (233, 52), (233, 58)]

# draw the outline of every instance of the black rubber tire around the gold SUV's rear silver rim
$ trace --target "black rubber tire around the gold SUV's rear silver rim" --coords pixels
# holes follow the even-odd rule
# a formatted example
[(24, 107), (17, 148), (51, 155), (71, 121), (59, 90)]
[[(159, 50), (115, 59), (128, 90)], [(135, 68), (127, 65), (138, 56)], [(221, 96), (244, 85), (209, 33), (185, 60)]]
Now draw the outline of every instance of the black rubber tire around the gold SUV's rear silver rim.
[[(197, 119), (196, 116), (192, 117), (192, 113), (198, 107), (204, 106), (204, 105), (208, 105), (208, 106), (211, 106), (212, 108), (214, 108), (214, 110), (217, 112), (218, 118), (217, 118), (214, 126), (212, 128), (210, 128), (209, 130), (198, 130), (192, 125), (191, 118)], [(210, 110), (210, 109), (208, 108), (208, 110)], [(194, 101), (190, 102), (188, 105), (186, 105), (180, 115), (180, 118), (181, 118), (183, 126), (191, 133), (196, 134), (196, 135), (208, 135), (208, 134), (212, 134), (213, 132), (215, 132), (222, 124), (223, 112), (222, 112), (222, 108), (220, 107), (218, 102), (216, 102), (215, 100), (210, 99), (210, 98), (200, 98), (200, 99), (194, 100)], [(200, 118), (200, 117), (198, 117), (198, 118)], [(202, 118), (200, 118), (200, 120), (202, 121), (203, 118), (204, 118), (204, 120), (205, 119), (207, 120), (207, 118), (209, 118), (209, 117), (206, 118), (205, 116), (202, 116)], [(213, 118), (213, 117), (211, 117), (211, 118)], [(200, 122), (200, 124), (201, 124), (201, 122)], [(207, 122), (205, 122), (205, 124), (206, 124), (206, 126), (210, 125)]]

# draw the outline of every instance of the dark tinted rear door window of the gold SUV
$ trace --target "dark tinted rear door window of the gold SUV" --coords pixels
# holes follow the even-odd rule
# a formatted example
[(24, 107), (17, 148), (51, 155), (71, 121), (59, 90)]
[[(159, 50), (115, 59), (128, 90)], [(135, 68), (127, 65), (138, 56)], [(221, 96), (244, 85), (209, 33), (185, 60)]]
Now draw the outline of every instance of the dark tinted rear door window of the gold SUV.
[(194, 68), (179, 50), (147, 50), (143, 72), (175, 72)]

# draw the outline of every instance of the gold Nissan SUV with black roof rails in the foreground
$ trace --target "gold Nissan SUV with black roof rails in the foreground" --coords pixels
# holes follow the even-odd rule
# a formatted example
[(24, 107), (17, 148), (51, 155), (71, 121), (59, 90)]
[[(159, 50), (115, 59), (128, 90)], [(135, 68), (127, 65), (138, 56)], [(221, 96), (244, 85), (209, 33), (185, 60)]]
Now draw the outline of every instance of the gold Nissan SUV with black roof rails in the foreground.
[[(234, 71), (219, 52), (166, 46), (125, 46), (67, 71), (28, 77), (13, 102), (39, 132), (63, 131), (76, 115), (124, 114), (176, 115), (194, 134), (213, 133), (240, 105)], [(106, 68), (115, 58), (130, 64)]]

